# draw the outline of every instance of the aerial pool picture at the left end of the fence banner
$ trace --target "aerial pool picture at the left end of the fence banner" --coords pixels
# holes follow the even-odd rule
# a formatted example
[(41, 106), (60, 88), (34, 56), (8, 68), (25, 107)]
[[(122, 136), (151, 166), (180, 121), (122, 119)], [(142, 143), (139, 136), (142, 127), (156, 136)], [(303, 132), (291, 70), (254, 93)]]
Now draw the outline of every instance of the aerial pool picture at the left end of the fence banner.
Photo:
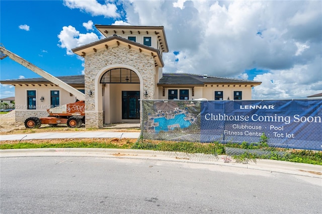
[(142, 100), (142, 119), (147, 139), (200, 139), (200, 101)]

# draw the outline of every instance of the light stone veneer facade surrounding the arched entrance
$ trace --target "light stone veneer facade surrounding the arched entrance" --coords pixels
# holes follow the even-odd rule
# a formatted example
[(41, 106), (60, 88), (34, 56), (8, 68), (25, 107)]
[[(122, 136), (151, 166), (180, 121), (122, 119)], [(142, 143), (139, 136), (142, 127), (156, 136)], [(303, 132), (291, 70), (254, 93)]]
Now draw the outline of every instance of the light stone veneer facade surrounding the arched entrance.
[[(98, 72), (109, 65), (124, 64), (137, 69), (143, 79), (143, 93), (149, 94), (146, 99), (153, 98), (155, 88), (155, 66), (151, 55), (140, 53), (127, 47), (116, 46), (85, 57), (85, 94), (86, 94), (86, 128), (103, 128), (103, 113), (95, 111), (95, 78)], [(100, 84), (97, 82), (97, 84)], [(93, 96), (89, 97), (89, 91)], [(100, 109), (100, 108), (99, 108)]]

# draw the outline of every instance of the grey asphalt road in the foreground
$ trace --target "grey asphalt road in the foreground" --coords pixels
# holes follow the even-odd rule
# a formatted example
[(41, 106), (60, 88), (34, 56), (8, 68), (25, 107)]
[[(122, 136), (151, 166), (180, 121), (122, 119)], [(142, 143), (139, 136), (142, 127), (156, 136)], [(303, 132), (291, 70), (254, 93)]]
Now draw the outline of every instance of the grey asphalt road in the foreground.
[(320, 178), (110, 157), (2, 157), (1, 213), (322, 213)]

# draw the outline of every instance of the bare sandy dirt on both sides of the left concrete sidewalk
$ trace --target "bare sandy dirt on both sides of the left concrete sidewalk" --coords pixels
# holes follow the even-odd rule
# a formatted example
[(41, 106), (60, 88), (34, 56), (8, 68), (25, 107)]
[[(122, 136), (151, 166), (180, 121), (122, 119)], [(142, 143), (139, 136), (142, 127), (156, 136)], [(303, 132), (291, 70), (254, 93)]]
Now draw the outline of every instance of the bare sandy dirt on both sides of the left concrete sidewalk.
[[(0, 135), (14, 135), (14, 134), (31, 134), (43, 132), (140, 132), (140, 125), (137, 123), (118, 123), (104, 125), (103, 129), (85, 129), (85, 125), (80, 128), (68, 128), (67, 125), (58, 125), (51, 127), (49, 125), (41, 125), (39, 129), (27, 129), (22, 122), (15, 121), (15, 111), (7, 114), (0, 114)], [(53, 139), (53, 140), (32, 140), (33, 143), (62, 143), (64, 141), (82, 140), (86, 142), (111, 142), (118, 145), (123, 145), (128, 142), (136, 141), (137, 139)], [(0, 141), (4, 143), (17, 143), (18, 141)], [(28, 141), (24, 141), (28, 142)]]

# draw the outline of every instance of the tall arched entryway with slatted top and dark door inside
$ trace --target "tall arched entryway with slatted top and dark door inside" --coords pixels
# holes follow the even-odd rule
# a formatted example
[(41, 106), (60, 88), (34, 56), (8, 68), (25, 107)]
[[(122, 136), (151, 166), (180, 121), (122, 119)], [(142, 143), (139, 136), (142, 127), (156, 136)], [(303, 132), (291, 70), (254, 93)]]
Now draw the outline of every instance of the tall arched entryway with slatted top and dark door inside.
[[(101, 91), (98, 105), (103, 111), (103, 123), (139, 122), (142, 81), (135, 68), (122, 65), (102, 69), (97, 86)], [(100, 106), (99, 106), (100, 107)]]

